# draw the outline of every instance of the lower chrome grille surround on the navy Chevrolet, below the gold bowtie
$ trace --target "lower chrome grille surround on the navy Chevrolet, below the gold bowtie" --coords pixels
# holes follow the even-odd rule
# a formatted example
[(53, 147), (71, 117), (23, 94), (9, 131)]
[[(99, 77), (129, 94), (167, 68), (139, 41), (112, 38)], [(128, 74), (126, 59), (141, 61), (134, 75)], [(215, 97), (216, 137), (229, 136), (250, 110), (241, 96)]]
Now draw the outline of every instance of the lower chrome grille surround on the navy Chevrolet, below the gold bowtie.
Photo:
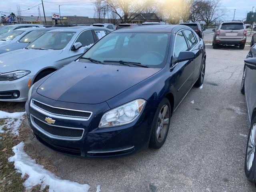
[(75, 140), (80, 140), (82, 139), (82, 137), (84, 136), (84, 129), (83, 128), (74, 128), (74, 127), (64, 127), (64, 126), (57, 126), (57, 125), (50, 125), (38, 118), (36, 118), (37, 120), (49, 125), (49, 126), (53, 126), (53, 127), (61, 127), (61, 128), (68, 128), (68, 129), (80, 129), (80, 130), (83, 130), (83, 133), (82, 133), (82, 136), (81, 137), (65, 137), (65, 136), (57, 136), (57, 135), (53, 135), (53, 134), (50, 134), (49, 132), (45, 131), (44, 129), (40, 128), (35, 122), (34, 122), (34, 118), (36, 118), (35, 116), (33, 116), (32, 114), (30, 114), (30, 120), (31, 120), (31, 124), (34, 126), (34, 128), (36, 128), (38, 131), (40, 131), (42, 134), (50, 137), (50, 138), (53, 138), (53, 139), (60, 139), (60, 140), (72, 140), (72, 141), (75, 141)]

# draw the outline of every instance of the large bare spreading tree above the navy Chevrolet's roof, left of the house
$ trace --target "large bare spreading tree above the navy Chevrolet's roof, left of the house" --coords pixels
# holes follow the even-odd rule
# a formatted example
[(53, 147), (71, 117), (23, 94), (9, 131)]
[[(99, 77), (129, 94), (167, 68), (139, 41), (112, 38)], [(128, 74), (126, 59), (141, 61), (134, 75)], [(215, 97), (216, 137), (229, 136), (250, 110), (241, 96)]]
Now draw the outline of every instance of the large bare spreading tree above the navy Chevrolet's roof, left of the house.
[(148, 0), (103, 0), (123, 23), (131, 22), (139, 14), (146, 10)]

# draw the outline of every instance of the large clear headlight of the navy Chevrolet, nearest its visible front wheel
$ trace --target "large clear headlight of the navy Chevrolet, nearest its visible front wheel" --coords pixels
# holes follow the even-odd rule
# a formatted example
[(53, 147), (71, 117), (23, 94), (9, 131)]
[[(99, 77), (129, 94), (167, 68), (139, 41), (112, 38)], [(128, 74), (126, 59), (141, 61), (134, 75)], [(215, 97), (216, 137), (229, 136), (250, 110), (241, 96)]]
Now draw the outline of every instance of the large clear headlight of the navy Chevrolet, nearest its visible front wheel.
[(99, 127), (120, 126), (133, 122), (138, 118), (145, 104), (145, 100), (137, 99), (114, 108), (102, 116)]

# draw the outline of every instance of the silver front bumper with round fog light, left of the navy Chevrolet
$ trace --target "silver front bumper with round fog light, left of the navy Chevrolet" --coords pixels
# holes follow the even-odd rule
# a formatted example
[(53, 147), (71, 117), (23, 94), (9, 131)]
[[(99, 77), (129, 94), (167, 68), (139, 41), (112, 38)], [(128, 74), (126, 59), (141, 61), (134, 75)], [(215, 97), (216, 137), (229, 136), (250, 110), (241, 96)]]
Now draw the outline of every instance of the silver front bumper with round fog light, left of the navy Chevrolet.
[[(33, 76), (24, 76), (20, 79), (13, 80), (13, 81), (0, 81), (0, 101), (25, 102), (28, 99), (28, 90), (29, 90), (28, 81), (30, 79), (33, 79)], [(12, 96), (10, 97), (4, 96), (5, 92), (12, 93), (13, 91), (19, 92), (19, 96), (17, 98), (14, 98)]]

